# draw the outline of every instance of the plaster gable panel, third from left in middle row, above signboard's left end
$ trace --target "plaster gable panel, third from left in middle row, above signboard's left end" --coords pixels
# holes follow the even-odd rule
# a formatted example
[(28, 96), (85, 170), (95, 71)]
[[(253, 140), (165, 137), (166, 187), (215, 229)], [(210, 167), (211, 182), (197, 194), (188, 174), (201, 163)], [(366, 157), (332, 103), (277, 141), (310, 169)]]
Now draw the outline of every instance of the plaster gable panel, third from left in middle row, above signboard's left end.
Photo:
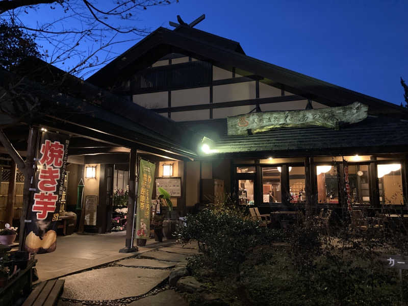
[(213, 103), (255, 98), (255, 81), (213, 87)]

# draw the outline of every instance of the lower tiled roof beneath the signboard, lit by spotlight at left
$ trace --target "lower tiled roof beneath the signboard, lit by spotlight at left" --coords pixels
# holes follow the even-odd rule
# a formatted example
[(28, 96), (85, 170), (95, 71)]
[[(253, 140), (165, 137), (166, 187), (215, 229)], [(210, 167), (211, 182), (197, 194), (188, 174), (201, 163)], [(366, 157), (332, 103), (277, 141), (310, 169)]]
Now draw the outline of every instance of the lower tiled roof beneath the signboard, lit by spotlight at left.
[(385, 152), (391, 146), (405, 146), (405, 151), (408, 151), (408, 121), (368, 117), (359, 123), (343, 126), (338, 131), (320, 126), (286, 127), (256, 135), (224, 136), (216, 142), (214, 149), (222, 154), (356, 147), (364, 151), (364, 148), (382, 147)]

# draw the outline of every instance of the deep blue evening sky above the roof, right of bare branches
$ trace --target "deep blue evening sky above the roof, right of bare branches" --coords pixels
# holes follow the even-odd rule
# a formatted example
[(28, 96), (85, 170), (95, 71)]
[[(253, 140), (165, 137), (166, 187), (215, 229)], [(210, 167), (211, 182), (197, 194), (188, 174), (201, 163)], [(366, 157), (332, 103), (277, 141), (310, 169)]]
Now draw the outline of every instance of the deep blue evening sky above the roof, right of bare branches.
[(180, 0), (142, 11), (136, 26), (171, 28), (177, 14), (191, 22), (205, 13), (197, 29), (239, 41), (251, 57), (399, 105), (400, 76), (408, 82), (407, 12), (406, 0)]

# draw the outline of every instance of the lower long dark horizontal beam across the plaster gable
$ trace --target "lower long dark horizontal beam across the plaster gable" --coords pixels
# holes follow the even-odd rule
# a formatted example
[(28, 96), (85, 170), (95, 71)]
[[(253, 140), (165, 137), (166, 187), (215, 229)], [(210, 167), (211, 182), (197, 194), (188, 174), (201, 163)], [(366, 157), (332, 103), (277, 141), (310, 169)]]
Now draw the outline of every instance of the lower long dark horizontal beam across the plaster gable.
[(177, 107), (172, 107), (170, 109), (166, 107), (166, 108), (158, 108), (158, 109), (151, 109), (151, 110), (157, 113), (184, 112), (184, 111), (197, 111), (197, 110), (211, 110), (211, 109), (217, 109), (217, 108), (235, 107), (235, 106), (244, 106), (244, 105), (258, 105), (258, 104), (268, 104), (268, 103), (289, 102), (289, 101), (298, 101), (298, 100), (304, 100), (304, 97), (298, 96), (298, 95), (276, 96), (276, 97), (269, 97), (269, 98), (228, 101), (228, 102), (213, 103), (213, 104), (177, 106)]

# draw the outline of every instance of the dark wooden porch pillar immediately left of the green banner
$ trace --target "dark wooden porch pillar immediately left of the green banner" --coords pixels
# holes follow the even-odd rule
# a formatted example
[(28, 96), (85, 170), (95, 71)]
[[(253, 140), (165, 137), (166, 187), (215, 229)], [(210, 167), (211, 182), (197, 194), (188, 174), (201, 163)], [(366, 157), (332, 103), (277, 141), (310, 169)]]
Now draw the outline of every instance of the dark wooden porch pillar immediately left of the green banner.
[(136, 163), (137, 150), (131, 149), (129, 161), (129, 196), (127, 199), (127, 223), (126, 223), (126, 240), (125, 247), (120, 249), (120, 253), (130, 253), (138, 251), (138, 247), (134, 246), (134, 228), (135, 224), (135, 203), (136, 203)]

